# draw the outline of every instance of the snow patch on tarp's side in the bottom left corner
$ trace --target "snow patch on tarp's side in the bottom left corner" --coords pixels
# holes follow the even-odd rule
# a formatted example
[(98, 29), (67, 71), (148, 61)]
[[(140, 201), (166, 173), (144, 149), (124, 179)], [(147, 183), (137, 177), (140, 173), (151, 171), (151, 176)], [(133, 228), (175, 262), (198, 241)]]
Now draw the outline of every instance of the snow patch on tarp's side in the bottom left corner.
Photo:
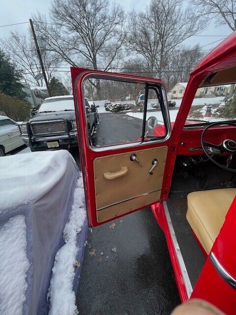
[(0, 228), (0, 315), (23, 313), (29, 270), (26, 246), (25, 216), (9, 219)]

